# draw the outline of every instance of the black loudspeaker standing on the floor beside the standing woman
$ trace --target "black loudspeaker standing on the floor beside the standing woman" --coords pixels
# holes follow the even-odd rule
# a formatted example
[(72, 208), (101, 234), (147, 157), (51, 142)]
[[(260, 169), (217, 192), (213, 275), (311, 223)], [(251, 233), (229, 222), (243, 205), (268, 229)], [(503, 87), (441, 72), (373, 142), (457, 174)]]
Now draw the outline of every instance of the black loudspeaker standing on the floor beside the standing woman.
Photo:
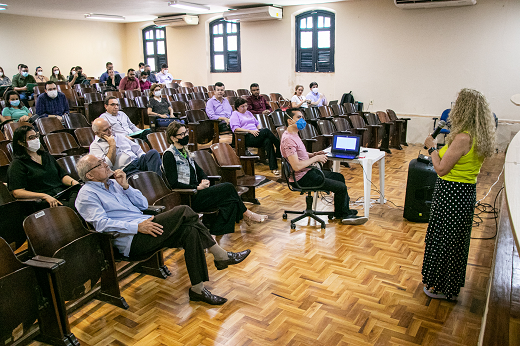
[(404, 201), (405, 219), (413, 222), (429, 221), (436, 180), (437, 173), (429, 156), (419, 155), (417, 159), (410, 161)]

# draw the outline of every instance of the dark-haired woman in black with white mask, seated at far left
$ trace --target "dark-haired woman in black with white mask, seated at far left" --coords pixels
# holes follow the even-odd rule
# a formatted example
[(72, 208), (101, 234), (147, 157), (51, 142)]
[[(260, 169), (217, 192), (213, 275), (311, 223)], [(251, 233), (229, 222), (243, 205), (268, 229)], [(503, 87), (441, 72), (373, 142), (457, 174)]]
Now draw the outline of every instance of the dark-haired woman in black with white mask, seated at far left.
[(67, 195), (65, 200), (56, 199), (56, 196), (79, 183), (42, 149), (40, 135), (33, 127), (21, 126), (14, 131), (13, 157), (7, 171), (7, 187), (15, 198), (41, 198), (51, 207), (65, 205), (74, 208), (75, 193), (64, 194)]

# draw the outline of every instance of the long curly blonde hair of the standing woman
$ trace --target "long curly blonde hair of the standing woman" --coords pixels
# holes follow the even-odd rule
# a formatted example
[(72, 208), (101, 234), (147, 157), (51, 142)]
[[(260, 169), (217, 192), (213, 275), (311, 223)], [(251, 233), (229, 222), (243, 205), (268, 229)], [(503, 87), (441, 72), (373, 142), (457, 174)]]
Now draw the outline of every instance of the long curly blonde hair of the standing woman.
[(484, 95), (473, 89), (462, 89), (449, 115), (450, 134), (446, 144), (467, 131), (481, 158), (490, 157), (495, 150), (495, 121)]

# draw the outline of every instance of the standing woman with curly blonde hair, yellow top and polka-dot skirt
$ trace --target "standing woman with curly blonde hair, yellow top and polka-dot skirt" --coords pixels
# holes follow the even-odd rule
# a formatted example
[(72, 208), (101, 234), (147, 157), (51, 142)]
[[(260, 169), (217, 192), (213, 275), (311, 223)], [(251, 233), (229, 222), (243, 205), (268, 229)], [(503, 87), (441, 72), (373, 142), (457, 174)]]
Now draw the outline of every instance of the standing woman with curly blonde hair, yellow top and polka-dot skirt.
[(424, 293), (453, 299), (464, 286), (468, 263), (477, 176), (494, 151), (495, 122), (476, 90), (462, 89), (449, 115), (446, 145), (428, 136), (424, 145), (437, 172), (422, 267)]

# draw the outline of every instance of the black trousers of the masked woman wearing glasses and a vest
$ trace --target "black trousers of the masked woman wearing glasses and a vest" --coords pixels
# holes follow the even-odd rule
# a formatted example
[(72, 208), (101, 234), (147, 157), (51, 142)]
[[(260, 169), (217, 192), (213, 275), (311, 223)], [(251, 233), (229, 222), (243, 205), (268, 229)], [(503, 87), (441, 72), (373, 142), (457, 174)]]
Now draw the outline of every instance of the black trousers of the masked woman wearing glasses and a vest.
[(222, 235), (235, 232), (235, 223), (243, 218), (247, 208), (231, 183), (222, 183), (199, 190), (191, 200), (196, 212), (218, 208), (218, 215), (210, 233)]

